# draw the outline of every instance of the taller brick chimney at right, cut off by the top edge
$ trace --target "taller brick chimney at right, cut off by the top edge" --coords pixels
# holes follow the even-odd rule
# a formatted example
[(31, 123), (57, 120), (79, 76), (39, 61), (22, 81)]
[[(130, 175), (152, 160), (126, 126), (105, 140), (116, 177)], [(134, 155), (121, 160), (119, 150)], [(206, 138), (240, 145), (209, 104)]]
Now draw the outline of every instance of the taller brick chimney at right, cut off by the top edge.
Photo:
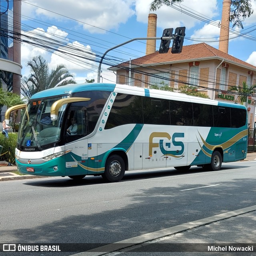
[(228, 53), (230, 6), (231, 0), (223, 0), (219, 50), (225, 53)]

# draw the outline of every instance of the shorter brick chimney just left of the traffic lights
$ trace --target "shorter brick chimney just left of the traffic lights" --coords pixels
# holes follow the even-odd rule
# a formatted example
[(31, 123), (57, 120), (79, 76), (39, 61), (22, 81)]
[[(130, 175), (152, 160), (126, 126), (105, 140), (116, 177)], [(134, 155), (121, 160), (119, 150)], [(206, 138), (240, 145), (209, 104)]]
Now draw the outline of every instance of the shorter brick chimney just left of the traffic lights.
[[(148, 33), (147, 37), (156, 37), (156, 19), (154, 13), (148, 14)], [(156, 40), (147, 40), (146, 55), (156, 52)]]

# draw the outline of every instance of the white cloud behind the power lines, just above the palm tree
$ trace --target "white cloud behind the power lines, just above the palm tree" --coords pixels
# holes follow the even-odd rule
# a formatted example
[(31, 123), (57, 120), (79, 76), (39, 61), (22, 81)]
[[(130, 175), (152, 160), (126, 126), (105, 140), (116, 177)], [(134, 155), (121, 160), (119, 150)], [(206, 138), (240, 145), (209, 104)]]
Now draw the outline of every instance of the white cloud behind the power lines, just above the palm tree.
[[(22, 32), (26, 36), (30, 36), (36, 39), (43, 39), (46, 42), (57, 40), (62, 45), (53, 54), (45, 49), (36, 47), (30, 43), (22, 43), (21, 46), (21, 60), (22, 60), (22, 75), (28, 76), (29, 69), (26, 67), (26, 62), (34, 56), (42, 55), (46, 60), (49, 60), (49, 68), (55, 68), (59, 64), (64, 64), (72, 74), (76, 74), (81, 71), (88, 71), (88, 69), (96, 70), (94, 58), (95, 54), (92, 52), (90, 46), (84, 46), (79, 42), (68, 43), (68, 33), (58, 29), (56, 26), (49, 27), (47, 31), (42, 28), (36, 28), (32, 31)], [(23, 39), (29, 42), (36, 42), (28, 37), (24, 36)], [(73, 55), (72, 55), (73, 54)], [(85, 75), (86, 76), (86, 75)]]

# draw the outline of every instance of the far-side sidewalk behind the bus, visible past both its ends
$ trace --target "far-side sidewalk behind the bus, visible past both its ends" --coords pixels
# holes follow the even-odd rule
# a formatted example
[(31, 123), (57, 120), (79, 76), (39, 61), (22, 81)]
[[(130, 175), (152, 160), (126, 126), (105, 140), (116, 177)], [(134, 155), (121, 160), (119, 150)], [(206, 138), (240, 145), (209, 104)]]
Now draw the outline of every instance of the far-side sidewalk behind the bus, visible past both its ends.
[[(242, 161), (252, 161), (256, 160), (256, 152), (248, 153), (246, 159)], [(16, 166), (5, 166), (0, 165), (0, 181), (6, 180), (23, 180), (23, 179), (33, 179), (33, 178), (45, 178), (46, 176), (38, 176), (38, 175), (19, 175), (14, 172), (17, 172)]]

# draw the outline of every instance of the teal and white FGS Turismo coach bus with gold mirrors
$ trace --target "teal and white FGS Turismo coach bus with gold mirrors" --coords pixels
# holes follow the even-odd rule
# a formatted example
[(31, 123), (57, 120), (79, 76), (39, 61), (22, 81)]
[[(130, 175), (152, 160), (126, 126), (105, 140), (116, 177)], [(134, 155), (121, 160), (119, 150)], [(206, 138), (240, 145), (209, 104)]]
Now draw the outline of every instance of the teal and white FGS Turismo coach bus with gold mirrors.
[[(23, 174), (101, 175), (202, 166), (246, 158), (247, 111), (240, 104), (119, 84), (72, 84), (34, 94), (18, 132), (16, 164)], [(76, 120), (76, 132), (68, 128)]]

